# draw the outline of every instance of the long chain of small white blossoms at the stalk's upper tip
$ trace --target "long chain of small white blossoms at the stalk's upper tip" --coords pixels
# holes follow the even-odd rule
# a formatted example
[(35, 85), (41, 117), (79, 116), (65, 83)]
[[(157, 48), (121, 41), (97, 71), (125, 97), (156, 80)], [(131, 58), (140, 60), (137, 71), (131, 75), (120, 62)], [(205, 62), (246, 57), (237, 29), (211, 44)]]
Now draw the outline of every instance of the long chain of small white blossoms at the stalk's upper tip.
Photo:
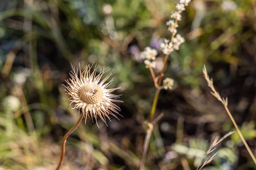
[[(166, 25), (168, 26), (168, 30), (172, 33), (173, 36), (177, 34), (177, 21), (181, 20), (181, 12), (185, 10), (185, 6), (187, 6), (190, 3), (191, 0), (180, 0), (179, 3), (176, 4), (176, 9), (171, 17), (175, 20), (169, 20), (166, 22)], [(160, 47), (162, 48), (163, 54), (169, 55), (174, 50), (178, 50), (180, 48), (180, 44), (185, 42), (185, 39), (180, 36), (180, 34), (177, 34), (175, 37), (172, 37), (171, 42), (167, 39), (164, 40), (163, 43), (160, 44)]]

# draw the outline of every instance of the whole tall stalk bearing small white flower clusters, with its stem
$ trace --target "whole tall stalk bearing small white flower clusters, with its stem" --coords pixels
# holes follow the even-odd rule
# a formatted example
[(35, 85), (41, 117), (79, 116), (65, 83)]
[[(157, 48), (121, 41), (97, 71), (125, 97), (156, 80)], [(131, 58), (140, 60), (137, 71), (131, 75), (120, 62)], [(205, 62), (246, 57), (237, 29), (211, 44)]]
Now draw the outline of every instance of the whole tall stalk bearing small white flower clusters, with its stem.
[[(141, 59), (145, 59), (144, 63), (146, 68), (150, 69), (150, 73), (151, 73), (151, 77), (153, 78), (154, 81), (154, 86), (156, 88), (156, 92), (155, 92), (155, 96), (154, 96), (154, 101), (151, 107), (151, 112), (150, 112), (150, 117), (149, 117), (149, 121), (148, 121), (148, 130), (147, 130), (147, 135), (145, 137), (145, 142), (143, 145), (143, 156), (142, 159), (140, 161), (140, 167), (139, 169), (142, 170), (144, 167), (144, 162), (146, 160), (146, 156), (147, 156), (147, 152), (148, 152), (148, 145), (149, 145), (149, 139), (151, 137), (151, 133), (153, 130), (153, 126), (152, 125), (152, 121), (154, 118), (154, 114), (157, 108), (157, 101), (158, 101), (158, 97), (160, 94), (160, 90), (162, 89), (172, 89), (172, 86), (174, 85), (174, 80), (167, 78), (165, 82), (163, 82), (164, 84), (162, 85), (162, 80), (163, 80), (163, 76), (164, 76), (164, 72), (166, 70), (166, 65), (167, 65), (167, 61), (169, 58), (169, 55), (172, 53), (172, 51), (174, 50), (179, 50), (180, 44), (182, 44), (183, 42), (185, 42), (185, 39), (183, 37), (180, 36), (180, 34), (177, 34), (177, 27), (178, 27), (178, 20), (181, 20), (181, 12), (185, 10), (185, 6), (188, 6), (188, 4), (190, 3), (191, 0), (180, 0), (179, 3), (176, 4), (176, 9), (177, 11), (175, 11), (171, 17), (174, 20), (169, 20), (166, 22), (166, 25), (168, 26), (168, 30), (172, 33), (172, 37), (171, 40), (167, 40), (165, 39), (163, 43), (161, 43), (161, 48), (162, 48), (162, 52), (163, 54), (165, 54), (165, 59), (164, 59), (164, 63), (163, 63), (163, 68), (160, 72), (160, 74), (156, 77), (154, 74), (154, 70), (153, 68), (155, 68), (156, 63), (155, 63), (155, 59), (157, 56), (157, 51), (155, 49), (151, 49), (150, 47), (146, 47), (145, 51), (142, 52), (141, 54)], [(152, 128), (151, 128), (152, 127)]]

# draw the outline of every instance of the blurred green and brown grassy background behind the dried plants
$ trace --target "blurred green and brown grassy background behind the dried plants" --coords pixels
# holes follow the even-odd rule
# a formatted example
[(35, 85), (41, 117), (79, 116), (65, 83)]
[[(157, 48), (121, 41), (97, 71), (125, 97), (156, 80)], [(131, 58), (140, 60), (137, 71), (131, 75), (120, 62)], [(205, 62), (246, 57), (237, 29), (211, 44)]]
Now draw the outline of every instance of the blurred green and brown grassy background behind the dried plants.
[[(78, 112), (68, 108), (71, 63), (115, 69), (120, 121), (81, 123), (66, 143), (63, 170), (135, 170), (154, 98), (140, 59), (171, 37), (174, 0), (0, 0), (0, 169), (53, 170)], [(149, 170), (195, 170), (216, 136), (234, 127), (202, 76), (205, 64), (253, 152), (256, 150), (256, 1), (192, 0), (177, 28), (186, 42), (169, 58), (148, 157)], [(205, 170), (253, 170), (237, 133)]]

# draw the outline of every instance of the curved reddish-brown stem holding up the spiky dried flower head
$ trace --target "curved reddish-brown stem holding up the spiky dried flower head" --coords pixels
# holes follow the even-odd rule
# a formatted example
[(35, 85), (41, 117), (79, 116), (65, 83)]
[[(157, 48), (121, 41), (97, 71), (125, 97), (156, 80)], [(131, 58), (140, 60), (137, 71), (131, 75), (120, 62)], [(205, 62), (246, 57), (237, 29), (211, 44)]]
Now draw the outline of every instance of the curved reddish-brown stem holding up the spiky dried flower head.
[(61, 168), (61, 165), (64, 161), (64, 157), (65, 157), (65, 144), (66, 144), (66, 141), (67, 141), (67, 137), (70, 136), (71, 133), (73, 133), (73, 131), (76, 130), (76, 128), (79, 126), (79, 124), (81, 123), (81, 120), (83, 119), (84, 117), (84, 112), (81, 113), (78, 121), (76, 122), (76, 125), (74, 125), (64, 136), (63, 140), (62, 140), (62, 145), (61, 145), (61, 159), (59, 161), (59, 164), (58, 164), (58, 167), (56, 168), (56, 170), (59, 170)]

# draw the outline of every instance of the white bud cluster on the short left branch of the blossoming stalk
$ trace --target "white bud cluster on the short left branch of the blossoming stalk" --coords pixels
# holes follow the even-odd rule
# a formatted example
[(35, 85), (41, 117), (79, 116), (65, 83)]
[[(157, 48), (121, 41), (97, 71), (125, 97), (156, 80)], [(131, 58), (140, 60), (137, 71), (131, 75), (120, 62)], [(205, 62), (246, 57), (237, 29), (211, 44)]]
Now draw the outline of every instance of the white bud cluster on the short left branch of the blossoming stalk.
[(144, 63), (146, 68), (156, 68), (156, 56), (157, 51), (150, 47), (146, 47), (145, 50), (140, 54), (140, 58), (145, 59)]

